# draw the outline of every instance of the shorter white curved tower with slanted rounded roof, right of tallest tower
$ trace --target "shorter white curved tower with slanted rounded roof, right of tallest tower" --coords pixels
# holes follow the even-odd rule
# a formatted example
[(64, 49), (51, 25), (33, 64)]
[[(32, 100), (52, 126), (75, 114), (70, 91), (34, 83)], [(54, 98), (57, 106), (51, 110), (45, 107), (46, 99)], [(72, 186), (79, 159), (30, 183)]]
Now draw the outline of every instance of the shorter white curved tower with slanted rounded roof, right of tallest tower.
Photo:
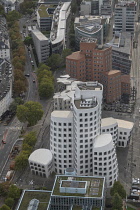
[(111, 134), (95, 138), (93, 145), (93, 175), (105, 176), (107, 187), (118, 179), (118, 163)]

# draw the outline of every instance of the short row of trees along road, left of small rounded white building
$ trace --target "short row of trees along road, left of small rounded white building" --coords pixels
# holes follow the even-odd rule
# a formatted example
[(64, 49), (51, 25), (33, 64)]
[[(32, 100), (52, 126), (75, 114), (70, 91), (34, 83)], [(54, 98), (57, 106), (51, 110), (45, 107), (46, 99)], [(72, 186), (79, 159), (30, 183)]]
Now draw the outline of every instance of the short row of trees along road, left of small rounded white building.
[(36, 133), (33, 131), (24, 136), (22, 151), (15, 158), (16, 170), (22, 171), (27, 167), (28, 158), (33, 151), (36, 141), (37, 141)]

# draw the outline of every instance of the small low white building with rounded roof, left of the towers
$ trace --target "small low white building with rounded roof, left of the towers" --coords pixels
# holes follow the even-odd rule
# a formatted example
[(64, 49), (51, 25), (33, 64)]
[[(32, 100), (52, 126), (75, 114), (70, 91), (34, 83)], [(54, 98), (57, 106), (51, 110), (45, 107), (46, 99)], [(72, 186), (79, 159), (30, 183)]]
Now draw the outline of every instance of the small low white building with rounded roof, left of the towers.
[(35, 175), (48, 177), (53, 171), (53, 156), (48, 149), (37, 149), (29, 156), (31, 172)]

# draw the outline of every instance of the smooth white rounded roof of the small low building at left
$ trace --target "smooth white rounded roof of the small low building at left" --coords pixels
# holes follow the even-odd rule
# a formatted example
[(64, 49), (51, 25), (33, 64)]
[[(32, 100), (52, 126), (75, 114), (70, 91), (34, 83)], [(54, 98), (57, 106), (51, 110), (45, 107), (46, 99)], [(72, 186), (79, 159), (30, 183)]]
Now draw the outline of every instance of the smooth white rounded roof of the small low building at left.
[(48, 149), (37, 149), (29, 156), (29, 161), (47, 165), (52, 161), (52, 153)]

